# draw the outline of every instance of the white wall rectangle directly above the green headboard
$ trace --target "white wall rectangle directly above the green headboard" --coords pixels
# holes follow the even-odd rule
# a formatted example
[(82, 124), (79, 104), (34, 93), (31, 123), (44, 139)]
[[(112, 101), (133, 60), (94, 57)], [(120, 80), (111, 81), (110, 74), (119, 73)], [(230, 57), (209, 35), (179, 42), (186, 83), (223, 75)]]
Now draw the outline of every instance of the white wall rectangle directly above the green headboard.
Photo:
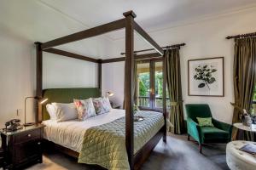
[(97, 64), (61, 55), (43, 54), (43, 88), (95, 88)]

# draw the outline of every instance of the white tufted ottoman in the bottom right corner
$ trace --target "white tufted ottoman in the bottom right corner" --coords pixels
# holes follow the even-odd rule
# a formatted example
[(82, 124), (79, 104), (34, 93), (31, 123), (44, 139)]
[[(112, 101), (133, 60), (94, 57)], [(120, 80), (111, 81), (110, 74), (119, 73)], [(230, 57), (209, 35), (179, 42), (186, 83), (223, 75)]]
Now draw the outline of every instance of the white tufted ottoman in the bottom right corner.
[(245, 144), (256, 143), (236, 140), (227, 144), (226, 160), (231, 170), (256, 170), (256, 156), (239, 150)]

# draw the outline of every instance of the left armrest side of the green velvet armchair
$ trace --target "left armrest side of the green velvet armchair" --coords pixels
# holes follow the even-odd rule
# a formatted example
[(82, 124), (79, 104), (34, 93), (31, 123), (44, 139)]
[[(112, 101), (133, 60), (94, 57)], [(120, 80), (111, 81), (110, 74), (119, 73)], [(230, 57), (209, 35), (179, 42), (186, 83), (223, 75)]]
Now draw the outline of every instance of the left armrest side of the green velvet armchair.
[(191, 118), (187, 118), (187, 127), (188, 133), (191, 135), (196, 141), (201, 143), (201, 127), (197, 122), (193, 121)]

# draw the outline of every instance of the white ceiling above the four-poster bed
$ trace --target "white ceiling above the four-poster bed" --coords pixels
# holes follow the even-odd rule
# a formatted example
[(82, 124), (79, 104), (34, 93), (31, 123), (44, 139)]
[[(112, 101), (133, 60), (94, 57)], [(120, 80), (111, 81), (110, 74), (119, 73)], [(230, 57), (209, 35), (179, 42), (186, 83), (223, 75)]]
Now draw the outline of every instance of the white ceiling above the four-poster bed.
[[(77, 31), (123, 18), (133, 10), (148, 33), (186, 25), (191, 21), (256, 6), (256, 0), (1, 0), (1, 32), (33, 43), (67, 36)], [(62, 45), (61, 49), (96, 58), (108, 58), (124, 32)], [(103, 57), (104, 56), (104, 57)]]

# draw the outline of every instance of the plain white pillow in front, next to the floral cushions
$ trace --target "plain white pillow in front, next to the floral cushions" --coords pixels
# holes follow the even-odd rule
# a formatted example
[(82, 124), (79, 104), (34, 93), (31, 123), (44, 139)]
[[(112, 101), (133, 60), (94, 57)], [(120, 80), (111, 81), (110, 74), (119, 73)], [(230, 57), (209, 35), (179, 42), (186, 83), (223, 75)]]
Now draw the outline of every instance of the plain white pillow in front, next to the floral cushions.
[(54, 103), (53, 105), (55, 105), (56, 108), (57, 122), (65, 122), (79, 118), (77, 108), (73, 103)]

